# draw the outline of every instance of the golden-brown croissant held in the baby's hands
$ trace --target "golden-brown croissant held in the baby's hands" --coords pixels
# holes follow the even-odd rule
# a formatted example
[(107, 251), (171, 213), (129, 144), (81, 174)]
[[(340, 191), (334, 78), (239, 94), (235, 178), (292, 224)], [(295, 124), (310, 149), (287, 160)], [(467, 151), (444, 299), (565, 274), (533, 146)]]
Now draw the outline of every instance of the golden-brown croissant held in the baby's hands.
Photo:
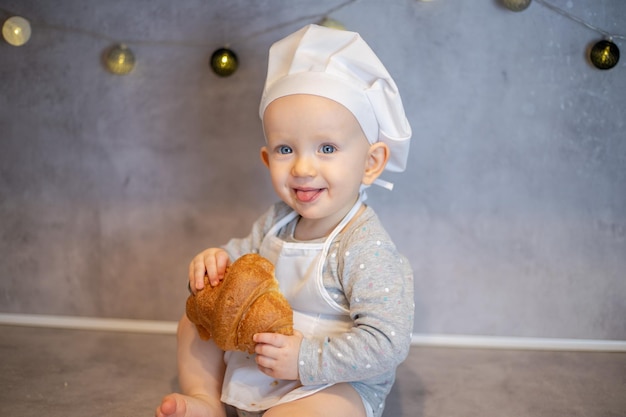
[(293, 334), (293, 311), (279, 291), (274, 265), (257, 254), (243, 255), (224, 279), (187, 298), (186, 313), (203, 340), (222, 350), (254, 352), (255, 333)]

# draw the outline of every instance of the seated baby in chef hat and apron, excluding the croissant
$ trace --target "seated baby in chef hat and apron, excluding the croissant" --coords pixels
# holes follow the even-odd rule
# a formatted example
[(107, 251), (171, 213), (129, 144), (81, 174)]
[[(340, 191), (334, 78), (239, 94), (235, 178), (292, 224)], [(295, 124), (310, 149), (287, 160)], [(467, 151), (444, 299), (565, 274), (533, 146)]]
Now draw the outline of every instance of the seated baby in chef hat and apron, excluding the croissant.
[[(380, 417), (413, 329), (413, 275), (364, 189), (403, 171), (411, 129), (396, 84), (354, 32), (309, 25), (270, 49), (260, 117), (280, 202), (250, 235), (189, 267), (192, 291), (259, 253), (294, 310), (294, 335), (254, 336), (255, 354), (222, 352), (183, 317), (183, 394), (157, 417)], [(226, 407), (227, 405), (228, 407)]]

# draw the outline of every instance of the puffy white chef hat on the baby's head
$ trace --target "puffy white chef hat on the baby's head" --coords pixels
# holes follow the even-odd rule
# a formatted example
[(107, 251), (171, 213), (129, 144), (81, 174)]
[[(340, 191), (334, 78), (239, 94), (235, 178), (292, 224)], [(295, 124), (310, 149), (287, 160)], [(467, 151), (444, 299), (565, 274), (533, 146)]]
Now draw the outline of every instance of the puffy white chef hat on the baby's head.
[(406, 168), (411, 126), (396, 83), (358, 33), (308, 25), (274, 43), (259, 115), (274, 100), (311, 94), (354, 114), (370, 143), (384, 142), (392, 172)]

